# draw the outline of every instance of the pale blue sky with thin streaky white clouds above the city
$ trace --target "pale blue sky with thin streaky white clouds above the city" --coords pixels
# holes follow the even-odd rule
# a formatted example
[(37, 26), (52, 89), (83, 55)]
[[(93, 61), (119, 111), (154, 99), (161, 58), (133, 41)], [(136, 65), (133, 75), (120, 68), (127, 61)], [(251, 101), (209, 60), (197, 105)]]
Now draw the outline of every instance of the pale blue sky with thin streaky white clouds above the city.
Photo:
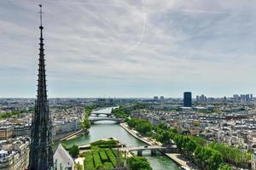
[(0, 97), (256, 95), (256, 1), (0, 1)]

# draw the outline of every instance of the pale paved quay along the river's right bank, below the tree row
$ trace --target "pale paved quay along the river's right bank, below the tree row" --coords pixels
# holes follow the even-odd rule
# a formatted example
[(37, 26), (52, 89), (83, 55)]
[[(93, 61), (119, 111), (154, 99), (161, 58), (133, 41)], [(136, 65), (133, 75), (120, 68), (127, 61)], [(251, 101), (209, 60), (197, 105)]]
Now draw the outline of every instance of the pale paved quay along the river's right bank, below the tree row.
[[(155, 139), (146, 138), (140, 135), (136, 130), (131, 129), (126, 122), (120, 123), (120, 127), (123, 127), (128, 133), (130, 133), (134, 138), (143, 141), (145, 144), (148, 145), (161, 145), (160, 142), (157, 142)], [(183, 156), (180, 154), (172, 154), (172, 153), (165, 153), (167, 157), (175, 161), (177, 165), (180, 167), (189, 167), (191, 170), (197, 170), (198, 168), (192, 165), (189, 161), (187, 161)]]

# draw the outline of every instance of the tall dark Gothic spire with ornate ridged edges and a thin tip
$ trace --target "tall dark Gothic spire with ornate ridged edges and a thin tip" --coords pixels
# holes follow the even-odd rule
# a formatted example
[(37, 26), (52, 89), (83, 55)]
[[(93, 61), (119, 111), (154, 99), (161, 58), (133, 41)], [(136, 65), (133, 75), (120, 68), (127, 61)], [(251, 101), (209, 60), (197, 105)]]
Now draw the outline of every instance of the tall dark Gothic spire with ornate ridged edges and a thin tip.
[(40, 48), (38, 69), (38, 98), (35, 112), (32, 117), (32, 142), (30, 146), (29, 170), (48, 170), (53, 166), (53, 151), (51, 139), (51, 119), (47, 100), (45, 65), (44, 65), (44, 38), (42, 26), (42, 5), (40, 7)]

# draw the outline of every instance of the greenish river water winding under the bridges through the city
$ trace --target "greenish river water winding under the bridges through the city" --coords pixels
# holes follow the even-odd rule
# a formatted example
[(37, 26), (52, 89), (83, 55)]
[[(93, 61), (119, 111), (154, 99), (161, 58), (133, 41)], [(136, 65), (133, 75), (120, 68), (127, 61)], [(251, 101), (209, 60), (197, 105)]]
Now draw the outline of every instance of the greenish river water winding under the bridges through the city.
[[(104, 109), (99, 112), (109, 112), (112, 108)], [(114, 137), (121, 141), (123, 144), (127, 146), (143, 146), (145, 145), (142, 141), (131, 136), (130, 133), (127, 133), (125, 129), (120, 127), (118, 124), (114, 124), (113, 122), (102, 121), (96, 122), (94, 125), (90, 127), (90, 134), (88, 136), (82, 136), (77, 139), (71, 139), (63, 142), (68, 146), (72, 146), (73, 144), (88, 144), (90, 142), (96, 141), (98, 139), (104, 139)], [(173, 162), (166, 156), (162, 156), (158, 153), (157, 156), (150, 156), (150, 151), (143, 151), (143, 156), (145, 156), (151, 167), (154, 170), (178, 170), (177, 164)]]

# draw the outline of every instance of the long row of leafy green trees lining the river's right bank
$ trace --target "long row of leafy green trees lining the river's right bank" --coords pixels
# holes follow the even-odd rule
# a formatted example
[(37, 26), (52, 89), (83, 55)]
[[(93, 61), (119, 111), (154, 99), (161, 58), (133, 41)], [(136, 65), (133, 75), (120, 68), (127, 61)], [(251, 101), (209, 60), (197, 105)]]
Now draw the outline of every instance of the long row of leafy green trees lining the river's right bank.
[(153, 126), (146, 120), (131, 118), (127, 124), (135, 128), (137, 132), (154, 138), (162, 144), (174, 142), (183, 156), (194, 161), (203, 170), (229, 170), (232, 169), (229, 164), (234, 167), (249, 167), (251, 161), (249, 152), (217, 142), (207, 144), (205, 139), (177, 133), (176, 128), (169, 129), (166, 123)]

